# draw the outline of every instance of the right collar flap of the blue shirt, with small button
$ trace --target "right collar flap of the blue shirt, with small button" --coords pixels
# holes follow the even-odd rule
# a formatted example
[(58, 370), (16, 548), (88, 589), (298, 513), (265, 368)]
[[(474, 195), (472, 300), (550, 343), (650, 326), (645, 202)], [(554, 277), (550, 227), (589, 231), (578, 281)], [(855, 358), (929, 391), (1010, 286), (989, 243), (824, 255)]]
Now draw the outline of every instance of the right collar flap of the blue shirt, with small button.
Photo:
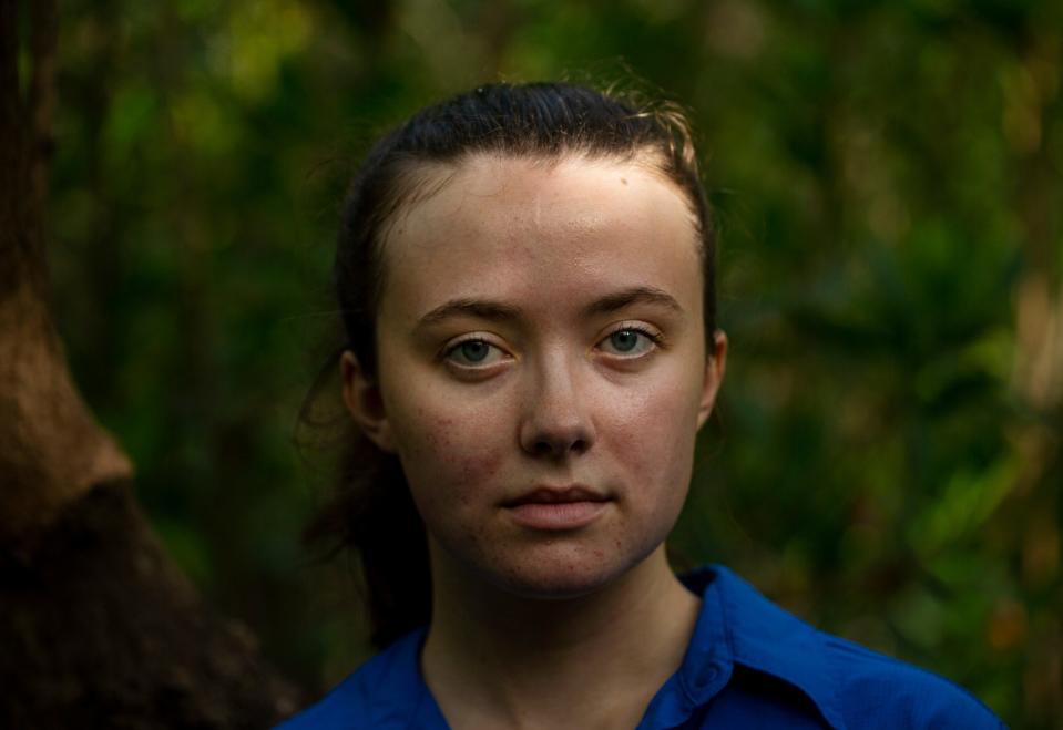
[[(696, 703), (707, 702), (718, 691), (715, 682), (705, 681), (705, 667), (725, 667), (729, 676), (728, 660), (733, 660), (798, 688), (831, 728), (845, 730), (821, 634), (723, 566), (701, 568), (682, 579), (687, 588), (702, 595), (703, 602), (691, 648), (678, 672)], [(723, 648), (708, 648), (719, 646), (720, 638)]]

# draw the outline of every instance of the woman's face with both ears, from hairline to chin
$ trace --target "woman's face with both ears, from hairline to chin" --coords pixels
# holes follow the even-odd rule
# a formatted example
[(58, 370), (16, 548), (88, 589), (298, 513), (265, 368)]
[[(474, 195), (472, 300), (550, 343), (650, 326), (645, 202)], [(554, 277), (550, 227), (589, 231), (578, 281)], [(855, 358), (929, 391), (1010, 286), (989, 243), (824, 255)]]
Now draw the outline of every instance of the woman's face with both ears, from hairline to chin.
[(356, 420), (402, 463), (437, 580), (585, 594), (663, 545), (723, 376), (682, 193), (646, 165), (480, 155), (385, 244)]

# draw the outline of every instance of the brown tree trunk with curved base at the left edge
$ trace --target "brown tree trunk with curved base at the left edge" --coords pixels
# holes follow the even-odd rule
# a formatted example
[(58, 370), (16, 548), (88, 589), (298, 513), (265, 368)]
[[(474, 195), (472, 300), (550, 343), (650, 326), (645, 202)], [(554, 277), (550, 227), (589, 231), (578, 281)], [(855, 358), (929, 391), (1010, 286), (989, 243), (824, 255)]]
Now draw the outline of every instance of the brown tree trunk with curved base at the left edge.
[(51, 318), (58, 22), (55, 0), (0, 0), (0, 727), (268, 727), (296, 691), (165, 555)]

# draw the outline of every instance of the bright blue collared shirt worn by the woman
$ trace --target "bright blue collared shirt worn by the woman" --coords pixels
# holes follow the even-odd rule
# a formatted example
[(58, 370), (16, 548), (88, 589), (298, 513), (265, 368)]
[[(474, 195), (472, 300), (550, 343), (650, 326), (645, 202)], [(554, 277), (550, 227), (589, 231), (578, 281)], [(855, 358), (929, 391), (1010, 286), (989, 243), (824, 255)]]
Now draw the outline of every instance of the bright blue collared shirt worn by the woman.
[[(816, 630), (727, 568), (683, 577), (702, 609), (679, 669), (637, 730), (1003, 728), (937, 675)], [(446, 730), (421, 677), (426, 629), (399, 639), (283, 730)]]

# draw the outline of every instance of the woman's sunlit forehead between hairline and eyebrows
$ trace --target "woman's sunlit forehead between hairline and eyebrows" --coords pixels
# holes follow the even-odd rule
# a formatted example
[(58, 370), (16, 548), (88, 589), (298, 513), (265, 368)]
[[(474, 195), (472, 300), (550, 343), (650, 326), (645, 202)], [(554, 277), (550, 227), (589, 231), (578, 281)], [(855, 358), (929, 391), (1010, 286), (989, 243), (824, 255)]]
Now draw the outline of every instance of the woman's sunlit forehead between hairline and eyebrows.
[(452, 298), (549, 310), (633, 286), (699, 306), (694, 215), (646, 163), (476, 155), (426, 168), (419, 189), (385, 239), (381, 316)]

